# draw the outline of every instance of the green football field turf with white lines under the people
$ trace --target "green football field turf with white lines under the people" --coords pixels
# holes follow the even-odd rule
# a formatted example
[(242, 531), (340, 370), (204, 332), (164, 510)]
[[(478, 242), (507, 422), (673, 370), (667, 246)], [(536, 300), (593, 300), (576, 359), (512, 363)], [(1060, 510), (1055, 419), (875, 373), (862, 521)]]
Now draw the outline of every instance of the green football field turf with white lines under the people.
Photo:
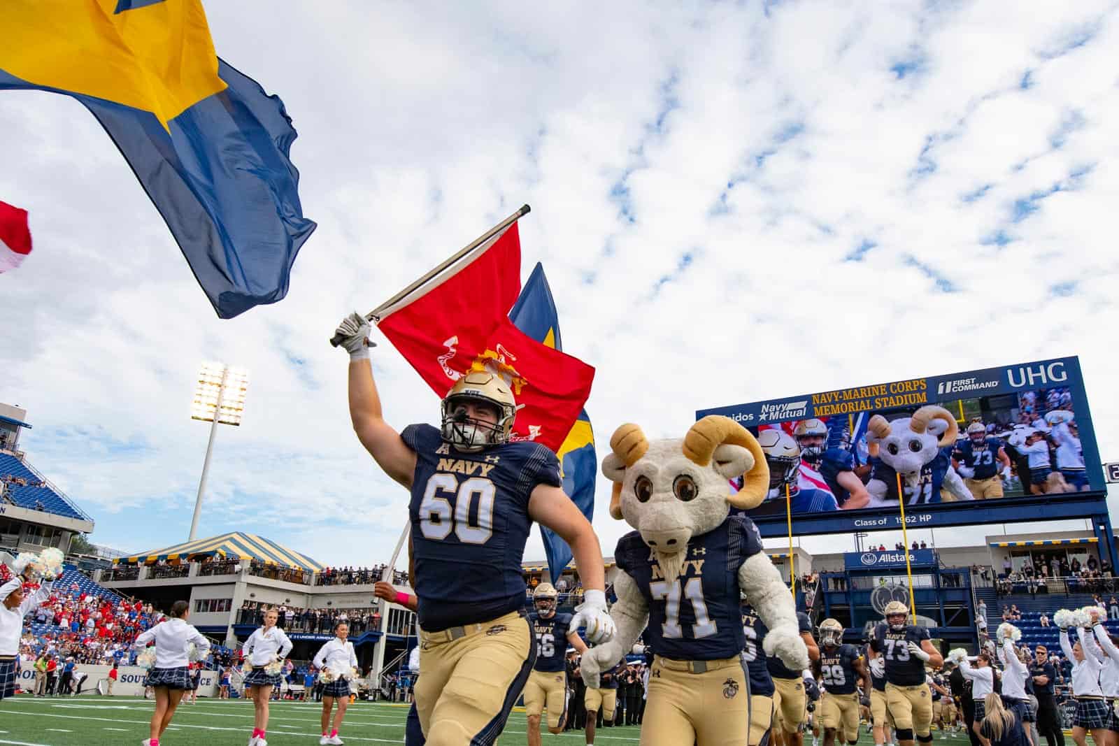
[[(101, 697), (43, 698), (18, 697), (0, 702), (0, 745), (91, 746), (125, 744), (139, 746), (148, 737), (148, 720), (153, 703), (139, 698)], [(269, 746), (295, 746), (319, 743), (320, 706), (314, 702), (273, 702), (269, 725)], [(339, 735), (347, 744), (402, 744), (407, 706), (356, 702), (346, 712)], [(253, 730), (253, 707), (244, 700), (200, 699), (184, 703), (175, 715), (160, 746), (244, 746)], [(638, 727), (603, 728), (595, 735), (598, 746), (637, 744)], [(568, 731), (558, 736), (544, 734), (544, 744), (580, 746), (583, 734)], [(940, 742), (940, 735), (937, 735)], [(525, 714), (514, 710), (500, 746), (525, 744)], [(811, 739), (806, 739), (810, 746)], [(872, 739), (865, 734), (859, 746)], [(949, 734), (946, 746), (966, 746), (965, 736)], [(684, 745), (681, 746), (689, 746)]]

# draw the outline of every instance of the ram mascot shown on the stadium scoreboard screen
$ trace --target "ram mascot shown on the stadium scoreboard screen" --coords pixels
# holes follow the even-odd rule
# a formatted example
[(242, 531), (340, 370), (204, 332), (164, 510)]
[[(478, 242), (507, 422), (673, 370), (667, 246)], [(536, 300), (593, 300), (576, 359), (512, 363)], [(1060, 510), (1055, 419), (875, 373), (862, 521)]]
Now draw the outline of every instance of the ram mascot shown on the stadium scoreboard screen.
[(871, 508), (897, 502), (901, 474), (905, 503), (941, 501), (941, 488), (956, 500), (974, 500), (971, 491), (952, 468), (951, 450), (960, 428), (943, 407), (923, 406), (909, 417), (886, 419), (874, 415), (866, 425), (866, 442), (876, 457), (866, 490)]

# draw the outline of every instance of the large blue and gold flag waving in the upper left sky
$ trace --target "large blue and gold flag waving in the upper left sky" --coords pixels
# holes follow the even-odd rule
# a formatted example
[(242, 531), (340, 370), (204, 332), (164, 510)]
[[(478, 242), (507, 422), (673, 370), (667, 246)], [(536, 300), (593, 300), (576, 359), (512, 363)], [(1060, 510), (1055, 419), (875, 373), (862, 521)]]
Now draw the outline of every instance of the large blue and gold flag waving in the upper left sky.
[(0, 28), (0, 89), (66, 94), (97, 117), (219, 317), (286, 295), (316, 227), (295, 130), (217, 58), (200, 0), (3, 0)]

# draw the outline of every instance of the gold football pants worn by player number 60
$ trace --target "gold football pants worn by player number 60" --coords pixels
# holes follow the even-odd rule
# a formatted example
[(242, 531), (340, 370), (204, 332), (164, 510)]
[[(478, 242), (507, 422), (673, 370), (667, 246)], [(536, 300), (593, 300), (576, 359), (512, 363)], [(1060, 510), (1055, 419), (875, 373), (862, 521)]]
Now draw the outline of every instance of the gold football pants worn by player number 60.
[(496, 743), (535, 662), (532, 626), (517, 613), (420, 630), (415, 703), (427, 746)]

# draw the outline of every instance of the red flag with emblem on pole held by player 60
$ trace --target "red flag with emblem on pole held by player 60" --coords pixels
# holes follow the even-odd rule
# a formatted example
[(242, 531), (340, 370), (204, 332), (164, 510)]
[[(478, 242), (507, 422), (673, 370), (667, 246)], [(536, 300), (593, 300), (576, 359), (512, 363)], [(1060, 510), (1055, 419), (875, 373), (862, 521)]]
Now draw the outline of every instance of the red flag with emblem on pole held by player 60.
[(501, 376), (523, 407), (513, 440), (558, 451), (591, 395), (594, 368), (509, 321), (520, 294), (516, 220), (527, 211), (523, 207), (372, 315), (440, 397), (469, 370)]

